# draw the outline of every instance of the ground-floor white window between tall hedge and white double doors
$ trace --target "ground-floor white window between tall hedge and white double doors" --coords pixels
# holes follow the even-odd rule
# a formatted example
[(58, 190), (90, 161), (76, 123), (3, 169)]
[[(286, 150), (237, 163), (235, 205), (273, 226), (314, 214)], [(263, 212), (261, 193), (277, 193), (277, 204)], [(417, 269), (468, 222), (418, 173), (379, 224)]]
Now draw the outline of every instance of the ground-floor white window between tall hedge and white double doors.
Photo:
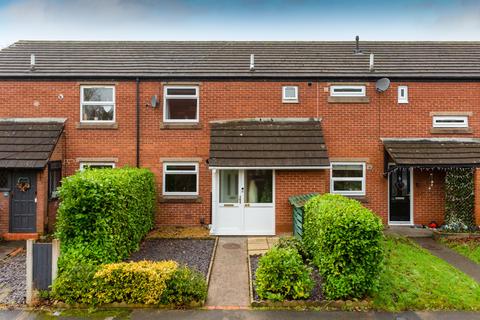
[(198, 163), (165, 162), (163, 164), (163, 195), (198, 195)]

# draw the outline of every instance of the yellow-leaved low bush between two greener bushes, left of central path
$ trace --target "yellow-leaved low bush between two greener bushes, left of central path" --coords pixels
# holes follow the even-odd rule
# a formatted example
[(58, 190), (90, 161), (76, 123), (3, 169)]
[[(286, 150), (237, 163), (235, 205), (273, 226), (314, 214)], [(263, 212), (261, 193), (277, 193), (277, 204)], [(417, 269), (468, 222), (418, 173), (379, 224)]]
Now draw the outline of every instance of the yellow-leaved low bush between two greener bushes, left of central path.
[(160, 304), (166, 282), (176, 269), (174, 261), (103, 265), (93, 277), (96, 302)]

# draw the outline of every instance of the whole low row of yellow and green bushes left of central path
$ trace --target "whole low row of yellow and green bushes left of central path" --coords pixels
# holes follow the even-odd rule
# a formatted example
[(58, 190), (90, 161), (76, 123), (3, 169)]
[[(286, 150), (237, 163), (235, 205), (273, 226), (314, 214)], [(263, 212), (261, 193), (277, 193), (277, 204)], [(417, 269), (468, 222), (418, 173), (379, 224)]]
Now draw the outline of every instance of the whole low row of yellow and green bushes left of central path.
[(79, 265), (55, 281), (51, 297), (67, 303), (185, 306), (207, 295), (202, 274), (174, 261)]

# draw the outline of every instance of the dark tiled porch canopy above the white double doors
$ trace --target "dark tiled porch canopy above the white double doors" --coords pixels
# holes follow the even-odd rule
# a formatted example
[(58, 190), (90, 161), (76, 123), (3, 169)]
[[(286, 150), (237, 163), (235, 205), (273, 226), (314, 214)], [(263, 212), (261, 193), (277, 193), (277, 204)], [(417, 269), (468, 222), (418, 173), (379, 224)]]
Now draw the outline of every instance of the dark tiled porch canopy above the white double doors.
[(208, 163), (211, 169), (330, 166), (321, 120), (312, 118), (213, 121)]

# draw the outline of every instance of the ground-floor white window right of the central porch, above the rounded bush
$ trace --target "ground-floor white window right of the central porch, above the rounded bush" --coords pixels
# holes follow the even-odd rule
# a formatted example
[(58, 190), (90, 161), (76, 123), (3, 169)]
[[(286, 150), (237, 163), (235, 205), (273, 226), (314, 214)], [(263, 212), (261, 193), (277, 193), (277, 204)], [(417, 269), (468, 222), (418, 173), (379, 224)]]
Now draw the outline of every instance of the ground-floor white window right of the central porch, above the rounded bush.
[(365, 163), (332, 162), (330, 192), (350, 196), (365, 195)]

